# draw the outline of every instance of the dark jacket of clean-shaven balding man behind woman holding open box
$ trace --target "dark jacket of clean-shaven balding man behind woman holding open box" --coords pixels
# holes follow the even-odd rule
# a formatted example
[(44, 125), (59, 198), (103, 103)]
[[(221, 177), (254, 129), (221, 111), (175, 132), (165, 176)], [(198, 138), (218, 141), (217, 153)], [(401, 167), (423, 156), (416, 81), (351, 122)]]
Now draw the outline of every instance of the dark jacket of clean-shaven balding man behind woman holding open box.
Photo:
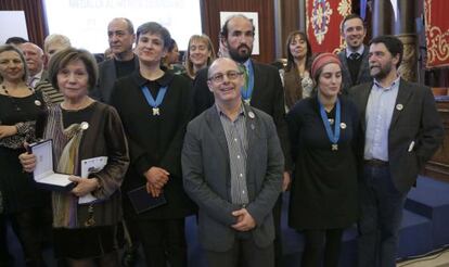
[[(134, 55), (133, 61), (137, 69), (139, 66), (138, 56)], [(104, 103), (110, 103), (115, 81), (117, 81), (117, 73), (114, 59), (103, 61), (99, 64), (99, 80), (92, 97)]]

